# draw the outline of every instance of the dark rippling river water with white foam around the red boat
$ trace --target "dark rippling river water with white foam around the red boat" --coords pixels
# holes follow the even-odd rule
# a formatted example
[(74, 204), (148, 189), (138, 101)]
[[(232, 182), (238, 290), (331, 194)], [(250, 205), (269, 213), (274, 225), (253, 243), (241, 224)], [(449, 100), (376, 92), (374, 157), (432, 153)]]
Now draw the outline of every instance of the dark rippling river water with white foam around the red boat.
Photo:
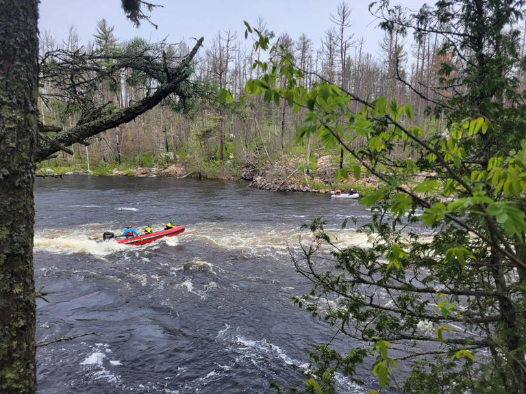
[[(292, 265), (299, 226), (318, 216), (342, 244), (356, 200), (264, 192), (246, 183), (125, 177), (38, 179), (38, 393), (270, 393), (302, 386), (306, 352), (334, 331), (290, 301), (310, 290)], [(145, 246), (101, 242), (127, 224), (186, 227)], [(293, 369), (292, 365), (298, 365)], [(366, 379), (369, 371), (358, 378)], [(339, 393), (364, 393), (338, 378)]]

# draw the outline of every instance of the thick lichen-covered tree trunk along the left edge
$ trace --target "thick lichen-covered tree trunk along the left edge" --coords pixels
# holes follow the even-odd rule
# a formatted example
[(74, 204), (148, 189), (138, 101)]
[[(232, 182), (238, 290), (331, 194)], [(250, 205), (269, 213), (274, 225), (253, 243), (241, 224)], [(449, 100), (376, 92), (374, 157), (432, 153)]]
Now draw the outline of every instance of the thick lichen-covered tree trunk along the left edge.
[(38, 1), (0, 2), (0, 393), (36, 393)]

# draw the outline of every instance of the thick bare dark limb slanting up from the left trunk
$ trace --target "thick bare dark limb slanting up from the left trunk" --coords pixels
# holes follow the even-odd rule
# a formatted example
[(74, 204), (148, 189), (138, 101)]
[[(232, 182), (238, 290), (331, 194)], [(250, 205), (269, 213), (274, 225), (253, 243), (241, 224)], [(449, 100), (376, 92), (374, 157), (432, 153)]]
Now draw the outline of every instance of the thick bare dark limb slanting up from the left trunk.
[(192, 51), (188, 53), (183, 62), (173, 70), (171, 79), (163, 83), (151, 96), (145, 97), (145, 99), (136, 102), (131, 107), (123, 108), (120, 111), (111, 114), (105, 114), (101, 118), (88, 120), (82, 124), (77, 124), (72, 129), (62, 131), (53, 136), (52, 142), (49, 140), (40, 140), (40, 144), (36, 151), (36, 161), (42, 161), (46, 157), (55, 153), (58, 150), (57, 146), (69, 146), (76, 142), (82, 142), (88, 137), (92, 137), (92, 135), (97, 135), (102, 131), (127, 123), (155, 107), (155, 105), (160, 103), (168, 95), (174, 92), (177, 93), (181, 83), (190, 77), (188, 66), (190, 66), (190, 62), (192, 62), (192, 59), (203, 44), (203, 40), (204, 38), (201, 37), (197, 41), (192, 48)]

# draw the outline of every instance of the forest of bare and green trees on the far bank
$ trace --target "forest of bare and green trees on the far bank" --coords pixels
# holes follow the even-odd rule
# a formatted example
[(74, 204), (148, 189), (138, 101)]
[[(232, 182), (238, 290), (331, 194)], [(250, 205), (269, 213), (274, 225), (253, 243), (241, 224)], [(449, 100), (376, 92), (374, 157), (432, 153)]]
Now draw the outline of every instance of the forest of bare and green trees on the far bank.
[[(440, 67), (457, 61), (438, 54), (443, 38), (425, 33), (409, 40), (407, 32), (397, 27), (384, 32), (379, 54), (374, 55), (364, 51), (365, 38), (353, 32), (352, 20), (349, 5), (340, 3), (326, 21), (321, 42), (313, 42), (306, 34), (298, 38), (275, 36), (261, 19), (255, 28), (278, 48), (271, 60), (279, 62), (285, 53), (295, 55), (297, 66), (304, 71), (299, 83), (305, 89), (326, 81), (360, 97), (389, 96), (412, 105), (414, 125), (426, 135), (435, 131), (443, 122), (435, 106), (444, 94)], [(93, 29), (84, 45), (81, 42), (86, 38), (77, 36), (74, 26), (60, 43), (46, 31), (41, 33), (39, 111), (50, 137), (53, 130), (77, 124), (88, 100), (91, 106), (116, 111), (149, 96), (160, 81), (152, 77), (151, 70), (140, 68), (140, 62), (151, 59), (176, 64), (191, 49), (186, 42), (151, 44), (138, 37), (118, 40), (118, 31), (105, 19)], [(336, 181), (338, 168), (355, 163), (339, 147), (324, 148), (315, 136), (297, 141), (305, 109), (292, 109), (279, 98), (271, 103), (253, 97), (243, 104), (225, 103), (221, 90), (229, 90), (234, 101), (245, 96), (247, 81), (259, 79), (262, 73), (253, 64), (268, 61), (264, 58), (268, 53), (255, 49), (251, 38), (240, 38), (229, 29), (205, 43), (192, 62), (188, 96), (181, 99), (171, 94), (131, 122), (68, 146), (41, 161), (38, 174), (50, 172), (48, 168), (59, 173), (132, 174), (133, 168), (177, 164), (186, 174), (221, 179), (238, 178), (245, 168), (274, 179), (284, 179), (297, 170), (295, 178), (300, 183), (312, 185), (314, 180), (314, 184), (326, 185)], [(523, 75), (520, 77), (523, 83)], [(361, 106), (355, 102), (353, 110)], [(361, 148), (366, 141), (349, 135), (347, 143)], [(409, 153), (401, 142), (393, 146), (393, 157), (403, 159), (406, 155)], [(324, 168), (316, 174), (320, 157)]]

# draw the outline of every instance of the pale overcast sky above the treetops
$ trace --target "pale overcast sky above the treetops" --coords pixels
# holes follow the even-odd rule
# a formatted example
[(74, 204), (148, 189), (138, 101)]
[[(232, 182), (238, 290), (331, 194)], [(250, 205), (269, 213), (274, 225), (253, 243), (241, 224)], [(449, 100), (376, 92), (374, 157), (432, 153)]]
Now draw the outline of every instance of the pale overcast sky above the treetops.
[[(434, 3), (434, 1), (427, 1)], [(205, 46), (218, 31), (237, 31), (238, 39), (245, 40), (243, 21), (255, 25), (258, 17), (275, 34), (288, 33), (296, 40), (302, 33), (319, 47), (325, 30), (332, 27), (330, 15), (336, 15), (340, 0), (151, 0), (164, 5), (151, 13), (151, 20), (159, 26), (157, 30), (144, 22), (140, 28), (127, 20), (121, 9), (121, 0), (40, 0), (40, 32), (48, 31), (58, 42), (65, 40), (68, 29), (73, 25), (82, 44), (92, 40), (97, 21), (105, 18), (114, 25), (114, 34), (121, 40), (140, 36), (152, 42), (168, 38), (168, 42), (186, 40), (191, 37), (205, 37)], [(364, 37), (364, 49), (377, 55), (378, 42), (382, 32), (378, 22), (368, 12), (371, 0), (347, 0), (351, 7), (349, 34)], [(392, 0), (410, 10), (418, 10), (424, 0)]]

